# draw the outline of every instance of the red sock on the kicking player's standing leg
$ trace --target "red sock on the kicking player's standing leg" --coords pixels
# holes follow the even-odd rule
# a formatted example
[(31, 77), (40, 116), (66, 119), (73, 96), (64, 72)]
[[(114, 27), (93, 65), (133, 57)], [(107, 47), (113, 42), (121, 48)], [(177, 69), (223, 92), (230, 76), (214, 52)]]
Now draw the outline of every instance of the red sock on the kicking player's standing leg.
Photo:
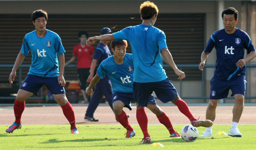
[(147, 115), (144, 108), (138, 109), (136, 111), (136, 118), (143, 132), (144, 138), (150, 137), (150, 134), (148, 134), (148, 131), (147, 131), (148, 119), (147, 119)]

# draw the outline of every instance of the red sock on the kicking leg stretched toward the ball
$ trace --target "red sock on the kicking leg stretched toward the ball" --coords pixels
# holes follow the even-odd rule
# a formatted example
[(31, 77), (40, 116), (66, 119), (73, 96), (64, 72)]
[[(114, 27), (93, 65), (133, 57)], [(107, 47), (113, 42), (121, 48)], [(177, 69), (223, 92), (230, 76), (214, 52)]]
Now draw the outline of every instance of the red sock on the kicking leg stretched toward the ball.
[(178, 109), (180, 110), (180, 112), (182, 114), (184, 114), (185, 116), (187, 116), (187, 118), (190, 120), (190, 121), (194, 121), (194, 120), (197, 120), (193, 115), (192, 113), (190, 112), (188, 106), (187, 106), (187, 103), (182, 100), (182, 99), (178, 99), (176, 101), (176, 105), (178, 106)]

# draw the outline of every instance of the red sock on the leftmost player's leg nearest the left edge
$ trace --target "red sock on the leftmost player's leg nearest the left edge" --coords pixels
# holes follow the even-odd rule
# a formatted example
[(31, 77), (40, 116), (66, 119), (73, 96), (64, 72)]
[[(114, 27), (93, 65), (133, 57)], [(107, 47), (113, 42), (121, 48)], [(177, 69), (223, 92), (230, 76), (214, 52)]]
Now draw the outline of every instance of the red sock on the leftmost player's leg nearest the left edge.
[(13, 110), (14, 110), (15, 122), (18, 124), (21, 124), (22, 113), (25, 110), (25, 101), (20, 102), (20, 101), (17, 101), (17, 99), (15, 99)]

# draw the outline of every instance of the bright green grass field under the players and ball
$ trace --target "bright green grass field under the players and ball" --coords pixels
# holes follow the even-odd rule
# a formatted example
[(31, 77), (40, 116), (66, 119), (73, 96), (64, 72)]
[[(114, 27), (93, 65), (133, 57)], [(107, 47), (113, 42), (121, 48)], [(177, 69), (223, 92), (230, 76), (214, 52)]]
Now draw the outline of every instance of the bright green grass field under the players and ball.
[[(136, 136), (124, 139), (125, 130), (121, 125), (79, 124), (80, 134), (70, 134), (69, 125), (24, 125), (12, 134), (5, 133), (7, 125), (0, 125), (0, 149), (256, 149), (256, 125), (239, 125), (242, 138), (217, 136), (198, 138), (195, 142), (184, 142), (181, 138), (169, 138), (163, 125), (149, 125), (152, 143), (164, 147), (140, 144), (142, 132), (133, 125)], [(179, 133), (183, 125), (174, 125)], [(228, 133), (230, 125), (214, 125), (213, 134)], [(199, 135), (205, 128), (198, 127)]]

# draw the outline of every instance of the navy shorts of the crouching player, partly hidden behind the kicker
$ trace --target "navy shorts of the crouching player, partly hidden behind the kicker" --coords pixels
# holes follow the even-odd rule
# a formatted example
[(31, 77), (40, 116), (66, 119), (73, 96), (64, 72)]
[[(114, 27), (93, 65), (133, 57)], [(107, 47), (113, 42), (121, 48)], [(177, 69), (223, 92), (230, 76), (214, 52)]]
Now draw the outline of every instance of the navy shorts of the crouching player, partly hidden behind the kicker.
[[(132, 111), (131, 108), (131, 101), (134, 99), (134, 94), (133, 93), (122, 93), (122, 92), (116, 92), (112, 94), (112, 102), (114, 103), (117, 100), (122, 101), (125, 105), (125, 108), (128, 108), (130, 111)], [(150, 96), (148, 103), (150, 104), (156, 104), (156, 100), (153, 95)]]

